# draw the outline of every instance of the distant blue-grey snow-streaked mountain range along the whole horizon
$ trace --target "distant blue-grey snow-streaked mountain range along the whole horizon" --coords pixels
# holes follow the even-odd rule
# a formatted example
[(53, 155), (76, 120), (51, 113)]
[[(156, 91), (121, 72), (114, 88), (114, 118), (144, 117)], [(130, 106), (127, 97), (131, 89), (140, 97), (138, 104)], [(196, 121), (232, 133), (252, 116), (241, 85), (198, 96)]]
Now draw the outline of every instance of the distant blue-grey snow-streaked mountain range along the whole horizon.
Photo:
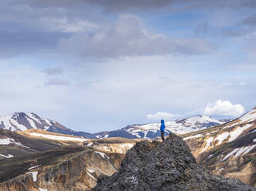
[[(200, 129), (206, 129), (210, 126), (217, 126), (229, 121), (230, 119), (217, 120), (210, 118), (209, 116), (192, 116), (186, 119), (177, 119), (176, 121), (166, 122), (166, 135), (169, 132), (176, 134), (184, 134), (187, 132), (194, 132)], [(124, 128), (88, 133), (88, 132), (77, 132), (72, 129), (63, 126), (59, 122), (51, 119), (45, 119), (39, 117), (32, 112), (15, 112), (9, 116), (0, 116), (0, 129), (9, 129), (11, 131), (19, 130), (25, 131), (27, 129), (42, 129), (49, 132), (57, 132), (61, 134), (71, 136), (81, 136), (86, 139), (97, 139), (97, 138), (108, 138), (108, 137), (124, 137), (128, 139), (153, 139), (159, 136), (160, 123), (148, 123), (142, 125), (129, 125)]]

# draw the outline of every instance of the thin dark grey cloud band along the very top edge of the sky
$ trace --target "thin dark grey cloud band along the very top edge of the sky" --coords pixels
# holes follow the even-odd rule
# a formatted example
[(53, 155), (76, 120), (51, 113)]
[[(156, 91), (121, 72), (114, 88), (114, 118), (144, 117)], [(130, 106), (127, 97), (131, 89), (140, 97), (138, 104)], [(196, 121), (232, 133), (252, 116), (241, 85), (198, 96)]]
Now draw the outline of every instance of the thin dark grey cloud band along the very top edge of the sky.
[[(15, 3), (15, 2), (13, 2)], [(20, 3), (20, 2), (18, 2)], [(36, 7), (60, 7), (60, 8), (84, 8), (90, 6), (91, 8), (100, 7), (105, 12), (123, 12), (125, 10), (148, 10), (158, 8), (166, 8), (172, 6), (173, 8), (180, 9), (183, 8), (252, 8), (256, 7), (256, 2), (254, 0), (77, 0), (76, 3), (70, 0), (23, 0), (22, 3), (27, 3)]]

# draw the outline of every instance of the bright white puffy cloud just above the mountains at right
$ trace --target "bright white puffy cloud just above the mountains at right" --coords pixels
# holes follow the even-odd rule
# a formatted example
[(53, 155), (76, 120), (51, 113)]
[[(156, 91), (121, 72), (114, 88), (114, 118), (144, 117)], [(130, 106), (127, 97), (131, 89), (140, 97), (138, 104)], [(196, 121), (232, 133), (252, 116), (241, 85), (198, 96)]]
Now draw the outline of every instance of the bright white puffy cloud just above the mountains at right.
[(241, 116), (244, 113), (244, 106), (232, 104), (228, 100), (217, 100), (214, 104), (208, 103), (203, 114), (209, 116)]

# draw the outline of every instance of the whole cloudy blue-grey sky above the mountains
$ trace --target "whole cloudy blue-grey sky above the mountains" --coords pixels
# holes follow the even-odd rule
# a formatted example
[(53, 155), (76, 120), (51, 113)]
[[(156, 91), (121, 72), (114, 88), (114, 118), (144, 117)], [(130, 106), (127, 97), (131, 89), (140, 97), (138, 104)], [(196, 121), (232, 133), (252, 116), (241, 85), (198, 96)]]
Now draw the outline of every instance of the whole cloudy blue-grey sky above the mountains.
[(0, 115), (100, 132), (256, 106), (256, 1), (0, 2)]

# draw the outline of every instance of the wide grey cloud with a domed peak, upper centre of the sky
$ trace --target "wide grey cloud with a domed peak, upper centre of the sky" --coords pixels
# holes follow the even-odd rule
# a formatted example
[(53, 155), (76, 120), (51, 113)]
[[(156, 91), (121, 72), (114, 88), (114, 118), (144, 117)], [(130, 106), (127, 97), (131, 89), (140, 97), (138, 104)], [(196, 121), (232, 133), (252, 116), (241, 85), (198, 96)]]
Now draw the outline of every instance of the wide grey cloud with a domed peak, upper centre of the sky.
[[(89, 57), (113, 58), (134, 55), (206, 54), (216, 48), (203, 39), (174, 39), (149, 33), (137, 18), (122, 17), (111, 27), (93, 35), (73, 35), (60, 42), (64, 52)], [(80, 49), (77, 49), (80, 47)]]

